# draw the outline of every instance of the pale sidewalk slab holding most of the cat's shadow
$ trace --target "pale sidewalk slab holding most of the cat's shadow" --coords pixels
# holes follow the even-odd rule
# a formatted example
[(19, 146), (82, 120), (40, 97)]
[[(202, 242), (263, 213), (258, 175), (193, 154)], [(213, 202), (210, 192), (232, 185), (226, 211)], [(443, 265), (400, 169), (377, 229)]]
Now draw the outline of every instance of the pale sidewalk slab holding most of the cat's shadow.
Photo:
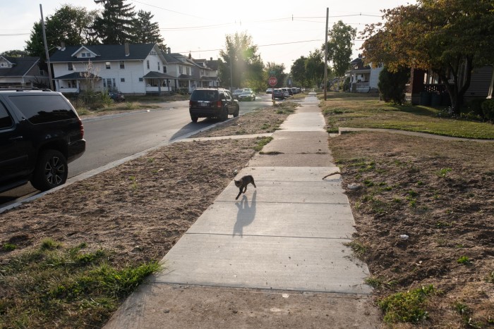
[(244, 196), (237, 202), (215, 202), (187, 233), (350, 239), (355, 223), (349, 218), (348, 204), (258, 205)]

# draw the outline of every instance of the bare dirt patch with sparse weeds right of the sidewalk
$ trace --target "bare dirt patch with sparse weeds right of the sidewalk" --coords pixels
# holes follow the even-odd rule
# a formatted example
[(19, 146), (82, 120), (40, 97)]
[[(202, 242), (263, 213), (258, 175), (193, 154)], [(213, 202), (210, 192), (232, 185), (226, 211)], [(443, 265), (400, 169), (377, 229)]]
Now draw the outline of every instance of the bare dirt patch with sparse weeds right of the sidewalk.
[(330, 139), (377, 297), (433, 285), (428, 328), (494, 323), (494, 143), (377, 132)]

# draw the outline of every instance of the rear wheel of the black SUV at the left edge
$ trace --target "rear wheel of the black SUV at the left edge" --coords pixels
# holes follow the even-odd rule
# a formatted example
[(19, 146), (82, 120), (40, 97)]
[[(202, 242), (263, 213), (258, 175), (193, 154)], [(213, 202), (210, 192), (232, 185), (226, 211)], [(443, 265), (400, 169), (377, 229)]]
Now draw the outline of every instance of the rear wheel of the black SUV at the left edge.
[(49, 149), (40, 154), (35, 171), (32, 173), (31, 184), (37, 190), (47, 191), (63, 185), (67, 176), (68, 166), (64, 154)]

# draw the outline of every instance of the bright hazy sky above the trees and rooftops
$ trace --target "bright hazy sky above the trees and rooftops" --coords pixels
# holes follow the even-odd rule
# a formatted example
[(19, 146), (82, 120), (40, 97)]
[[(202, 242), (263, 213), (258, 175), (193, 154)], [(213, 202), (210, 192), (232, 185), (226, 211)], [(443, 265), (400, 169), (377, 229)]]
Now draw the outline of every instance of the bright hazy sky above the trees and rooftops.
[[(159, 23), (164, 43), (171, 52), (193, 58), (219, 58), (226, 35), (236, 32), (252, 37), (263, 62), (284, 64), (289, 72), (292, 63), (325, 41), (326, 11), (328, 26), (342, 20), (357, 28), (353, 57), (358, 56), (363, 40), (359, 32), (366, 24), (381, 21), (381, 9), (415, 4), (415, 0), (305, 0), (305, 1), (162, 1), (126, 0), (135, 11), (150, 11)], [(40, 20), (40, 4), (46, 18), (62, 4), (102, 9), (93, 0), (0, 0), (0, 53), (24, 49), (35, 21)], [(56, 45), (49, 45), (56, 46)]]

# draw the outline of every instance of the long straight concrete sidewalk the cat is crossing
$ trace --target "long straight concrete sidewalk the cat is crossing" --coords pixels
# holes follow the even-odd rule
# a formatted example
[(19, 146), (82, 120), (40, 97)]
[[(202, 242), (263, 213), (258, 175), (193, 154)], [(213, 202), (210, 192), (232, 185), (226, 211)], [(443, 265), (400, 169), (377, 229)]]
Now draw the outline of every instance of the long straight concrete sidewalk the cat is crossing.
[(324, 126), (306, 97), (105, 328), (379, 328)]

